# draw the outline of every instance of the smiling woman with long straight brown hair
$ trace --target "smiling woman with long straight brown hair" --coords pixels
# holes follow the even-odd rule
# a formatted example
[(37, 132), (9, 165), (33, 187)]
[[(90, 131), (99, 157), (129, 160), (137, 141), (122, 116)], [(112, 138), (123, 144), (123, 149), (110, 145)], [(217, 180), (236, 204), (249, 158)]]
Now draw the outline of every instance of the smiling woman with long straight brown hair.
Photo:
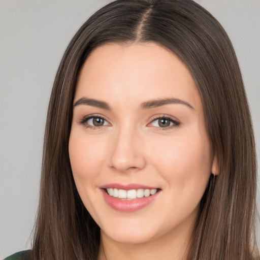
[(63, 56), (31, 259), (257, 259), (255, 147), (219, 23), (192, 1), (115, 1)]

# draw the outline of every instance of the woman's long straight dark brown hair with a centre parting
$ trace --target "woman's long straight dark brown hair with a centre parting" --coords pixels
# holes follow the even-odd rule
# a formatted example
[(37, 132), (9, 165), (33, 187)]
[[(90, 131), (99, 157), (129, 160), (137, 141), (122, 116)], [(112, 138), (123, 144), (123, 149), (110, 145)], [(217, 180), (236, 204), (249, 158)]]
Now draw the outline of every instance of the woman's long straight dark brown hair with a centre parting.
[(98, 257), (100, 229), (79, 198), (68, 144), (80, 69), (95, 47), (108, 42), (167, 47), (200, 91), (218, 175), (209, 179), (187, 259), (254, 259), (256, 155), (243, 80), (224, 29), (191, 0), (114, 1), (93, 14), (70, 42), (48, 109), (33, 259)]

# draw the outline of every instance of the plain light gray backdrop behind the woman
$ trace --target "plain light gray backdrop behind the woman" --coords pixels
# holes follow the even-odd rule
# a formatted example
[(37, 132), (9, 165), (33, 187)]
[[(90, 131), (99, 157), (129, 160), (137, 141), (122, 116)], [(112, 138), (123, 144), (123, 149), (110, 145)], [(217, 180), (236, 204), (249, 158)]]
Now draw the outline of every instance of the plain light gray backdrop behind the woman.
[[(0, 0), (0, 259), (30, 248), (55, 73), (76, 30), (107, 2)], [(220, 21), (234, 44), (259, 158), (260, 1), (197, 2)]]

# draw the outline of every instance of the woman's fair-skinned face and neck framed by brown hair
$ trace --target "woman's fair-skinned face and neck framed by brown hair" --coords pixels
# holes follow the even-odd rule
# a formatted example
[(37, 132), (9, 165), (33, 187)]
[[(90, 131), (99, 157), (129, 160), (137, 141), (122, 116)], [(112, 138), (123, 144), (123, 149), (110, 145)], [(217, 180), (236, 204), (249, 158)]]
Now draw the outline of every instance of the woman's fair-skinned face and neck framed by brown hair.
[[(94, 49), (77, 82), (69, 153), (101, 228), (99, 259), (185, 258), (213, 155), (200, 94), (174, 53), (155, 43)], [(156, 193), (110, 203), (113, 185)]]

